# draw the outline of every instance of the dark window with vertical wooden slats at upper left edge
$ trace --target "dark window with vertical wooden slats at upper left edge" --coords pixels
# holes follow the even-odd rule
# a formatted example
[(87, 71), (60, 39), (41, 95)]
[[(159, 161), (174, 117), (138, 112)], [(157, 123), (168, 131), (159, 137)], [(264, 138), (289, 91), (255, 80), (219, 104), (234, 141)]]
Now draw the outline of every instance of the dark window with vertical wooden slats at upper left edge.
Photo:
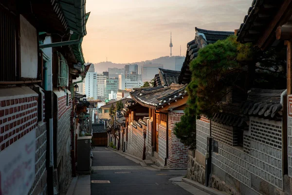
[(14, 81), (18, 76), (17, 17), (0, 5), (0, 80)]

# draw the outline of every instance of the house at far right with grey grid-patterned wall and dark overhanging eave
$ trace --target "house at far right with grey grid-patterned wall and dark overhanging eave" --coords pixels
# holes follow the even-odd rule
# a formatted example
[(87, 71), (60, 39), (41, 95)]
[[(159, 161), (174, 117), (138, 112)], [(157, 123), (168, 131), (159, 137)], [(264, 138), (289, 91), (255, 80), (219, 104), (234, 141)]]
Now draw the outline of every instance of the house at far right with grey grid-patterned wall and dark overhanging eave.
[[(226, 106), (212, 121), (197, 120), (197, 149), (191, 159), (195, 166), (190, 169), (192, 174), (188, 171), (188, 178), (204, 183), (203, 161), (208, 152), (212, 187), (242, 195), (291, 194), (291, 17), (291, 0), (253, 0), (237, 31), (237, 41), (251, 42), (262, 50), (271, 46), (281, 49), (285, 43), (287, 91), (251, 89), (241, 107), (235, 106), (236, 98), (227, 98), (232, 108)], [(237, 94), (233, 91), (229, 96)], [(210, 133), (212, 152), (207, 147)]]

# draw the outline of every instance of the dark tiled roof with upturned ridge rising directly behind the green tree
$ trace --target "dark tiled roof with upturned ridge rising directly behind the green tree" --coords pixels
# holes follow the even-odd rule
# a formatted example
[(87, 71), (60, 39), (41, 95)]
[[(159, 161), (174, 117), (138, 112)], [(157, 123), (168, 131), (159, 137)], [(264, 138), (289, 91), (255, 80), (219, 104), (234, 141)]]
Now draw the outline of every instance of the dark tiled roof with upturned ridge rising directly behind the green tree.
[(187, 84), (190, 82), (192, 74), (189, 68), (189, 63), (192, 59), (198, 56), (199, 49), (204, 48), (207, 44), (214, 43), (217, 40), (226, 39), (230, 35), (234, 35), (234, 32), (211, 31), (196, 27), (195, 39), (187, 43), (187, 51), (178, 83)]

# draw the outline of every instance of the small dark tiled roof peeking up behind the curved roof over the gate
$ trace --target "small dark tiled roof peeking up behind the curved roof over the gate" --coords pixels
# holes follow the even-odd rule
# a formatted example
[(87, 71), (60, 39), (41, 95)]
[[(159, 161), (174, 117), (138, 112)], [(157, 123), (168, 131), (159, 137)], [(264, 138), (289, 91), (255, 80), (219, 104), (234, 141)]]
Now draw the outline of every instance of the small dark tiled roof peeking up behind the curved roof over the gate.
[(158, 74), (154, 77), (154, 87), (163, 85), (170, 86), (171, 83), (178, 83), (181, 71), (166, 70), (159, 68)]

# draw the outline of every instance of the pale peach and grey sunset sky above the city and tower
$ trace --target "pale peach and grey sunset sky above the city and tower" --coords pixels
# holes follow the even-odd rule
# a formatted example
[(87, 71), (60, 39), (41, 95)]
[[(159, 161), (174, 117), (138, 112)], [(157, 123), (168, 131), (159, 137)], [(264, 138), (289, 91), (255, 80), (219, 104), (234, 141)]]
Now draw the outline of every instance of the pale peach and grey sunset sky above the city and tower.
[(195, 27), (234, 31), (252, 0), (86, 0), (86, 61), (130, 63), (186, 54)]

